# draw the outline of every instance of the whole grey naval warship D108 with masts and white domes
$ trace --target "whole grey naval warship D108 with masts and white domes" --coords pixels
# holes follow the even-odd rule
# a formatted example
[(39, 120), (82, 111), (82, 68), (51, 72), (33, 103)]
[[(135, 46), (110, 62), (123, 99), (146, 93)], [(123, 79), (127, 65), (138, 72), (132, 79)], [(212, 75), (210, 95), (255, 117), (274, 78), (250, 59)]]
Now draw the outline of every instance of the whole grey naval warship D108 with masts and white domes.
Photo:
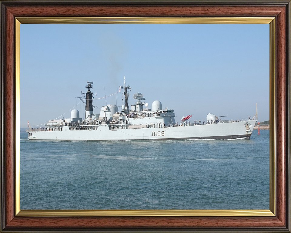
[[(100, 113), (93, 113), (93, 82), (87, 82), (85, 94), (85, 119), (78, 110), (72, 110), (71, 117), (49, 120), (45, 127), (27, 129), (29, 140), (185, 140), (185, 139), (236, 139), (250, 138), (257, 120), (221, 120), (212, 113), (206, 121), (189, 122), (190, 115), (176, 123), (174, 110), (162, 108), (155, 100), (152, 108), (143, 102), (141, 93), (135, 93), (137, 100), (129, 108), (129, 86), (120, 86), (125, 97), (121, 109), (115, 104), (102, 106)], [(144, 108), (145, 106), (145, 108)]]

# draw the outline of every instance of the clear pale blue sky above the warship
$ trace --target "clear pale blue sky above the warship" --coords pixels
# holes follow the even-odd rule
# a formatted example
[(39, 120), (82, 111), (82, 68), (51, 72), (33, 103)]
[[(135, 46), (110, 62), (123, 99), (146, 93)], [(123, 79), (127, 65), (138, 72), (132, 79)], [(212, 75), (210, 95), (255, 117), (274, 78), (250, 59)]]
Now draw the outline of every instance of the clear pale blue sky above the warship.
[[(126, 83), (129, 105), (141, 92), (174, 109), (176, 122), (256, 114), (269, 120), (268, 24), (21, 24), (20, 127), (42, 127), (85, 106), (77, 96), (94, 82), (94, 98)], [(122, 105), (121, 93), (94, 100)], [(65, 114), (64, 114), (65, 113)], [(64, 115), (63, 115), (64, 114)]]

